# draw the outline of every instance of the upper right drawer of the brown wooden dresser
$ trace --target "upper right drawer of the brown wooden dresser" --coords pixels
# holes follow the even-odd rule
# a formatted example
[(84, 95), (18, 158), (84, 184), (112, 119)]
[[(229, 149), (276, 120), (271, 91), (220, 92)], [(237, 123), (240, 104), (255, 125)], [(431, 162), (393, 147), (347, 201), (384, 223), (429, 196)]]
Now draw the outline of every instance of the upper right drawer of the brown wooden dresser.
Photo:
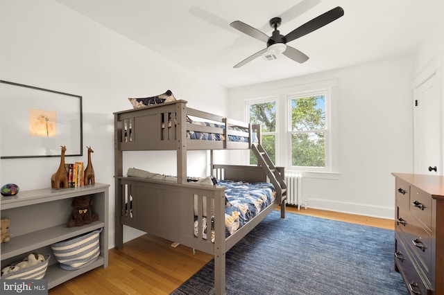
[(432, 197), (415, 186), (412, 186), (410, 191), (410, 212), (418, 217), (427, 229), (432, 229)]

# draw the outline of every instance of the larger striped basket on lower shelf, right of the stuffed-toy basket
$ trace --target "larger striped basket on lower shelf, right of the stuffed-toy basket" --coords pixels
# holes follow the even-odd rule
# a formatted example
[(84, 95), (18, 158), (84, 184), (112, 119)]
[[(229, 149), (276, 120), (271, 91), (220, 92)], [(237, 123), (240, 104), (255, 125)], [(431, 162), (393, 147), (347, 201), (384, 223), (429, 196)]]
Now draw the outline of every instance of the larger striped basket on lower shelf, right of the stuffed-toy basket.
[(81, 269), (96, 261), (100, 255), (101, 231), (102, 229), (98, 229), (52, 244), (54, 257), (60, 263), (60, 267), (65, 270)]

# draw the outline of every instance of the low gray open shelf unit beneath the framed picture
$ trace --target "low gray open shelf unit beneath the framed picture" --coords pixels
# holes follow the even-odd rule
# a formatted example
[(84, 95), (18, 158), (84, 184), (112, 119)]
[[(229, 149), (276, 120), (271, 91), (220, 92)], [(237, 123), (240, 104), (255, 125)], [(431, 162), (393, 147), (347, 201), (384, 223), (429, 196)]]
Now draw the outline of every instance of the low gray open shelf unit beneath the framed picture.
[[(51, 289), (96, 267), (108, 267), (108, 190), (108, 184), (94, 184), (60, 190), (25, 190), (13, 197), (1, 197), (1, 218), (11, 220), (8, 233), (12, 233), (10, 242), (1, 244), (1, 268), (26, 258), (31, 252), (49, 253), (51, 260), (44, 279), (48, 280)], [(92, 211), (99, 214), (99, 220), (68, 228), (72, 198), (83, 195), (92, 196)], [(96, 229), (103, 229), (100, 234), (99, 259), (75, 271), (61, 269), (53, 257), (51, 244)]]

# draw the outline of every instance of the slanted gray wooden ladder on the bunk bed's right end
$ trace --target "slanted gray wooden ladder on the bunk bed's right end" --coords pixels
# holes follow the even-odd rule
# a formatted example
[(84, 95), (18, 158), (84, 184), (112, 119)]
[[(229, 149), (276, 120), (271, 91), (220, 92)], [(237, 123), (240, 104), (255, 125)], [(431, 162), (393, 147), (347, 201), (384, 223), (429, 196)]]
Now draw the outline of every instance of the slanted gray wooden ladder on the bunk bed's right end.
[[(257, 164), (264, 168), (266, 176), (270, 179), (271, 184), (275, 186), (277, 195), (281, 198), (281, 217), (285, 215), (285, 199), (287, 199), (287, 184), (284, 181), (284, 175), (281, 175), (278, 168), (276, 168), (273, 161), (264, 150), (264, 147), (260, 143), (251, 145), (253, 153), (256, 155)], [(283, 208), (282, 208), (283, 207)]]

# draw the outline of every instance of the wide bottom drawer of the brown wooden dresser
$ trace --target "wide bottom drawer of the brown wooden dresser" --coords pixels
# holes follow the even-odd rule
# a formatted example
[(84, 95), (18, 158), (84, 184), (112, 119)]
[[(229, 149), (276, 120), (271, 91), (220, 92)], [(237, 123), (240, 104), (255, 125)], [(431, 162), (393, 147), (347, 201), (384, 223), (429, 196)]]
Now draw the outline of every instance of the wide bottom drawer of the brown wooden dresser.
[(395, 235), (395, 265), (402, 275), (410, 294), (431, 294), (429, 285), (424, 282), (416, 270), (407, 247), (398, 235)]

